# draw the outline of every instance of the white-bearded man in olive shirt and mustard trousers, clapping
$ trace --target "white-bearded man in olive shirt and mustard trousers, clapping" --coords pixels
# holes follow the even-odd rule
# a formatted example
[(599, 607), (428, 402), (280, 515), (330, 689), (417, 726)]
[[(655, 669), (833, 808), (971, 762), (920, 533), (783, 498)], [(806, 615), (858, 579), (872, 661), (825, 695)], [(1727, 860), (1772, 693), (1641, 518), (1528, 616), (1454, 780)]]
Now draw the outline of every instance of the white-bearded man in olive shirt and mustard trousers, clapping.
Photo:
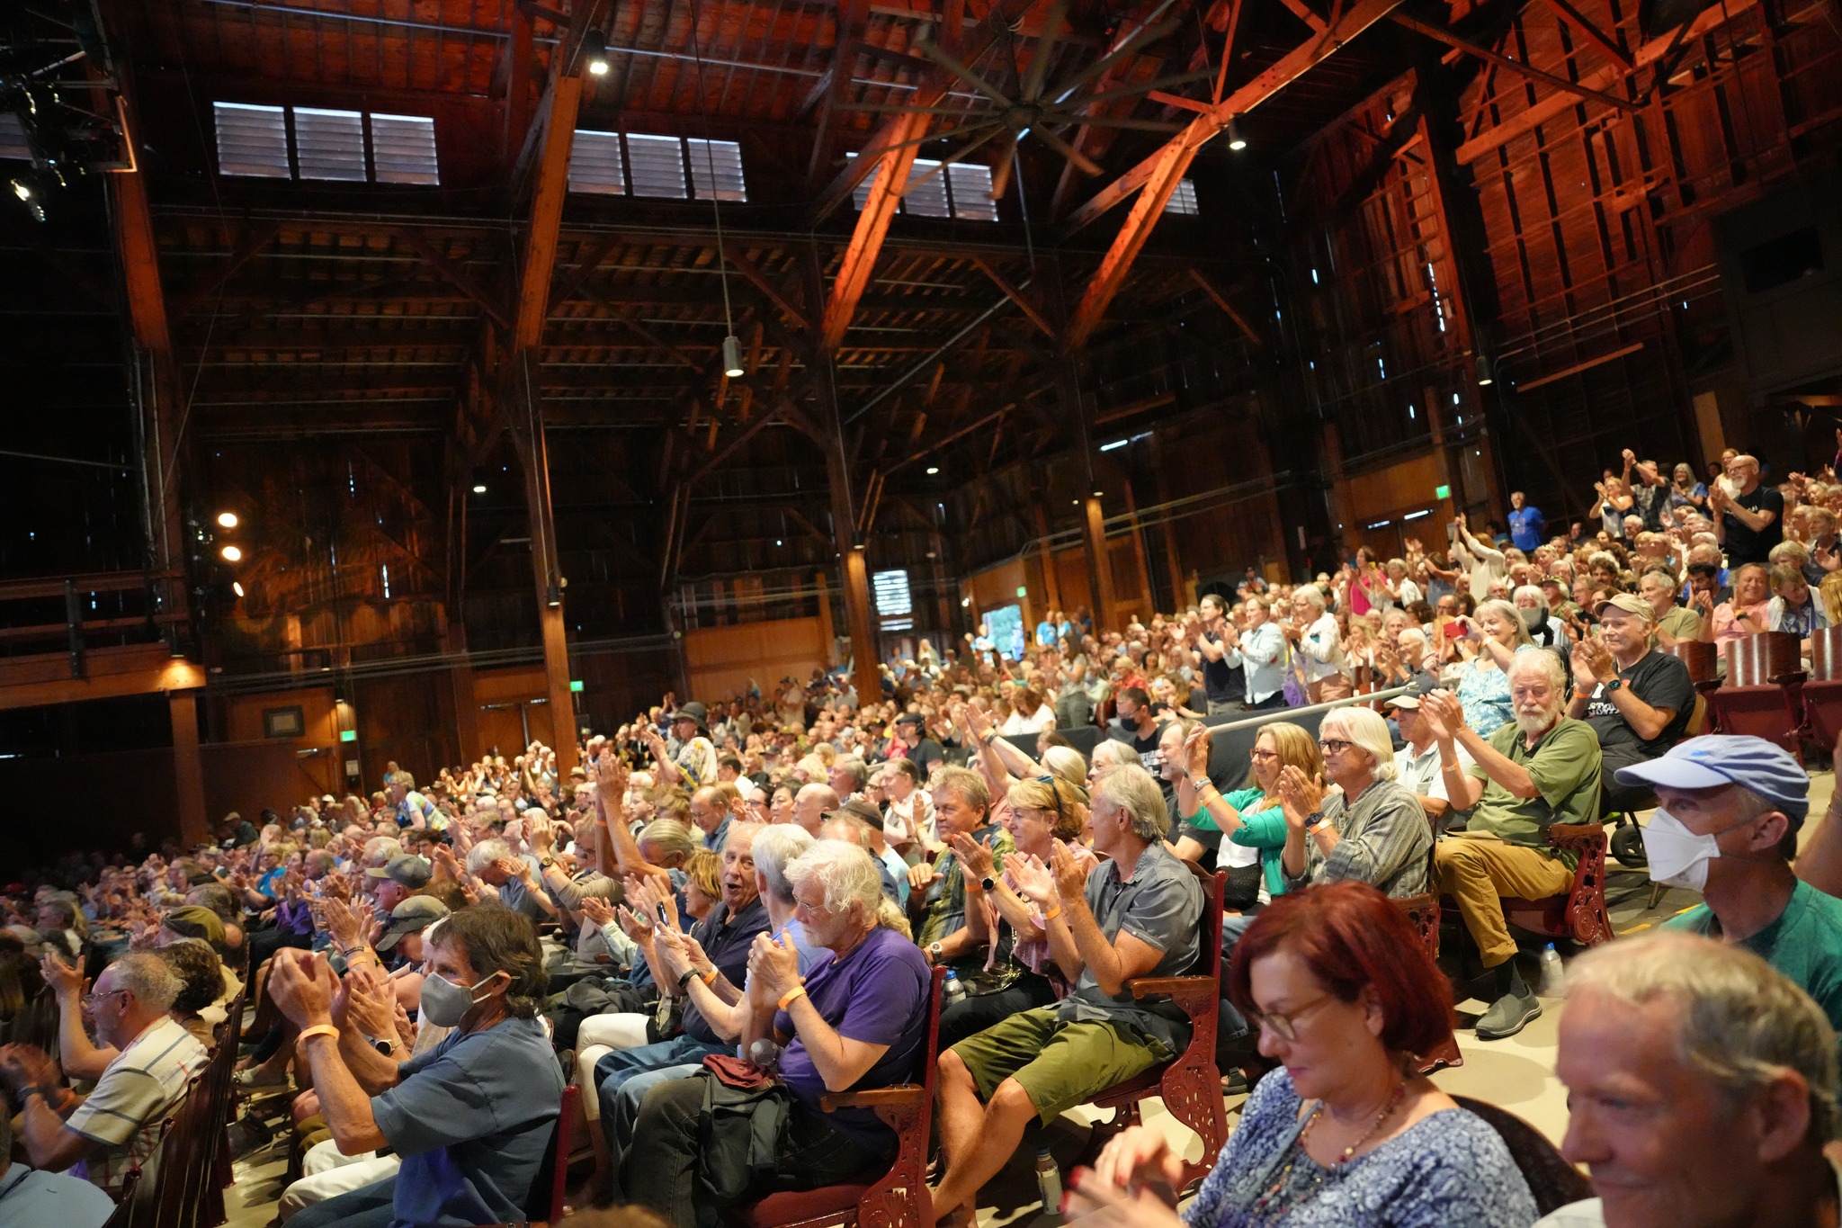
[[(1433, 852), (1439, 893), (1459, 902), (1464, 928), (1496, 978), (1496, 1000), (1477, 1020), (1479, 1040), (1521, 1031), (1542, 1013), (1516, 972), (1516, 939), (1503, 921), (1503, 897), (1540, 900), (1573, 886), (1573, 858), (1547, 843), (1555, 823), (1599, 817), (1599, 738), (1566, 714), (1566, 674), (1553, 652), (1521, 652), (1509, 666), (1512, 724), (1488, 738), (1464, 724), (1459, 698), (1435, 690), (1420, 700), (1420, 720), (1439, 742), (1439, 768), (1453, 810), (1472, 810), (1464, 830), (1448, 832)], [(1464, 764), (1459, 747), (1472, 757)]]

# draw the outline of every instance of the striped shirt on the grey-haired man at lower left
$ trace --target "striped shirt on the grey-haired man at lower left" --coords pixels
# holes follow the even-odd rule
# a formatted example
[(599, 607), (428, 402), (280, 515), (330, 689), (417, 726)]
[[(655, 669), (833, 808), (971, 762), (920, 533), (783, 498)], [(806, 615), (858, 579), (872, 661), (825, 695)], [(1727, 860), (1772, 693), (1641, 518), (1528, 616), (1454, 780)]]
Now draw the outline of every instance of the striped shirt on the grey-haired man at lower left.
[(109, 1062), (96, 1090), (64, 1121), (101, 1145), (87, 1162), (90, 1182), (112, 1193), (133, 1165), (147, 1162), (160, 1145), (166, 1118), (186, 1097), (186, 1084), (204, 1062), (204, 1046), (169, 1016), (149, 1024)]

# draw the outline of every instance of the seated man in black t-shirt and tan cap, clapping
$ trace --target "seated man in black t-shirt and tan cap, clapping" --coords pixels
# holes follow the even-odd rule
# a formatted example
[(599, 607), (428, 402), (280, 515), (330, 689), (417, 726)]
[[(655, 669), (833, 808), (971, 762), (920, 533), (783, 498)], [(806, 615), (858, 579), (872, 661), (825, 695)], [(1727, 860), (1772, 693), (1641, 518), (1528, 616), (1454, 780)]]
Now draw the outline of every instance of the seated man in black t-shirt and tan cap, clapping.
[(1650, 644), (1654, 628), (1650, 602), (1619, 593), (1599, 606), (1599, 637), (1573, 646), (1568, 716), (1599, 735), (1601, 808), (1608, 814), (1649, 797), (1643, 784), (1619, 784), (1614, 773), (1667, 751), (1695, 712), (1689, 666)]

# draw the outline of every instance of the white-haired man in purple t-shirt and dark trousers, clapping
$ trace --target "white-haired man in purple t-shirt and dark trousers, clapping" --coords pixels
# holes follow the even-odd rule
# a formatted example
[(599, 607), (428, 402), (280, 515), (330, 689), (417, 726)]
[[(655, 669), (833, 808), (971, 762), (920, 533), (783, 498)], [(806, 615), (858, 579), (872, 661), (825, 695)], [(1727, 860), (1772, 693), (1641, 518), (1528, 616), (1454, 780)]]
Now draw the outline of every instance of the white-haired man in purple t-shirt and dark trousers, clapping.
[[(877, 921), (882, 876), (860, 845), (820, 840), (787, 867), (787, 878), (794, 919), (831, 959), (801, 978), (790, 941), (755, 939), (742, 1051), (757, 1053), (761, 1040), (779, 1048), (779, 1073), (794, 1103), (775, 1169), (794, 1187), (810, 1189), (886, 1171), (893, 1160), (895, 1136), (871, 1110), (827, 1114), (820, 1097), (915, 1077), (932, 974), (914, 943)], [(707, 1160), (700, 1118), (709, 1079), (698, 1072), (654, 1086), (628, 1136), (613, 1140), (617, 1154), (624, 1153), (621, 1187), (674, 1228), (694, 1228), (698, 1211), (722, 1210), (700, 1206), (696, 1197)]]

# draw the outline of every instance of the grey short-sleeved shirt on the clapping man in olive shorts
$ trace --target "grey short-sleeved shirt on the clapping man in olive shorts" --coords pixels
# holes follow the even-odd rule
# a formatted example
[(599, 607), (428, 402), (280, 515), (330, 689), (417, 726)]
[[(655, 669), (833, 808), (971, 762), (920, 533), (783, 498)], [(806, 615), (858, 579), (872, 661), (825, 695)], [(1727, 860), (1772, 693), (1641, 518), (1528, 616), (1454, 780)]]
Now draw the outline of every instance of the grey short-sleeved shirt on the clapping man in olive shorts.
[[(1195, 967), (1203, 886), (1162, 843), (1146, 847), (1125, 882), (1120, 882), (1118, 862), (1102, 862), (1087, 876), (1087, 908), (1109, 943), (1125, 930), (1164, 952), (1148, 976), (1183, 976)], [(1190, 1044), (1190, 1020), (1172, 1002), (1138, 1002), (1124, 987), (1109, 998), (1092, 968), (1081, 968), (1081, 979), (1055, 1007), (1055, 1016), (1065, 1024), (1124, 1024), (1162, 1042), (1173, 1057)]]

